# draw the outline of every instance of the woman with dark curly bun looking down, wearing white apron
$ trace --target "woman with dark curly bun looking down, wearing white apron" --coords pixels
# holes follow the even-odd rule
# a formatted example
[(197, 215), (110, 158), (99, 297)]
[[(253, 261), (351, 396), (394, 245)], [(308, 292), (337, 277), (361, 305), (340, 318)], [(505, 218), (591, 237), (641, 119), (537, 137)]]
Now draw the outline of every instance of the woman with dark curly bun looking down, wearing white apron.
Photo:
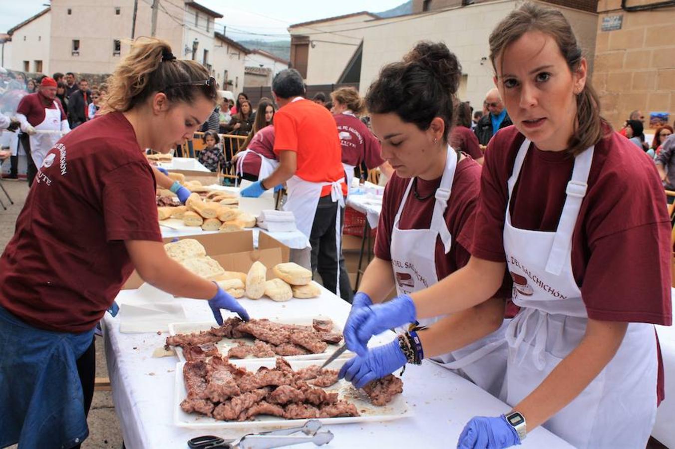
[[(404, 61), (385, 67), (367, 95), (382, 154), (396, 173), (385, 189), (375, 259), (354, 296), (352, 311), (381, 303), (394, 287), (399, 295), (423, 290), (470, 257), (456, 236), (463, 227), (472, 227), (481, 166), (447, 142), (456, 118), (452, 103), (461, 69), (444, 44), (418, 44)], [(448, 69), (437, 73), (435, 65)], [(433, 98), (422, 94), (429, 86), (437, 92)], [(427, 116), (412, 115), (411, 108), (427, 111)], [(506, 373), (502, 323), (508, 287), (501, 297), (472, 309), (418, 320), (428, 329), (399, 328), (397, 340), (354, 357), (340, 376), (360, 388), (426, 357), (496, 396)], [(414, 355), (410, 359), (408, 342), (418, 349), (408, 352)]]

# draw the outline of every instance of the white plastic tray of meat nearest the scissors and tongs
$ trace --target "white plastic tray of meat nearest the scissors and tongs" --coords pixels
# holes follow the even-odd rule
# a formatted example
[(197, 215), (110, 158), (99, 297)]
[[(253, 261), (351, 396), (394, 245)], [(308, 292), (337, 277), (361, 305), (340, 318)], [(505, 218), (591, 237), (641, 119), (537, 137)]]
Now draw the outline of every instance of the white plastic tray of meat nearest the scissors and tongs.
[[(347, 360), (345, 357), (333, 361), (327, 368), (339, 369)], [(230, 363), (240, 367), (245, 367), (249, 371), (257, 371), (261, 366), (274, 367), (275, 360), (271, 359), (257, 359), (257, 360), (230, 360)], [(293, 360), (289, 361), (293, 369), (300, 369), (310, 365), (321, 363), (317, 360)], [(241, 428), (259, 428), (259, 427), (294, 427), (302, 425), (306, 419), (283, 419), (275, 416), (261, 415), (256, 417), (254, 421), (220, 421), (219, 419), (209, 418), (205, 415), (198, 415), (197, 413), (185, 413), (180, 408), (180, 402), (184, 400), (188, 393), (185, 390), (185, 383), (183, 382), (183, 366), (185, 362), (178, 362), (175, 366), (175, 394), (173, 396), (173, 423), (179, 427), (189, 427), (192, 429), (241, 429)], [(383, 407), (377, 407), (371, 402), (365, 394), (356, 390), (352, 384), (342, 379), (337, 384), (331, 387), (324, 388), (327, 392), (338, 392), (340, 399), (346, 399), (354, 405), (360, 416), (353, 417), (336, 417), (336, 418), (319, 418), (324, 424), (345, 424), (345, 423), (360, 423), (366, 421), (391, 421), (412, 416), (412, 411), (408, 409), (406, 400), (403, 397), (405, 394), (405, 385), (403, 386), (404, 393), (397, 394), (394, 400)]]

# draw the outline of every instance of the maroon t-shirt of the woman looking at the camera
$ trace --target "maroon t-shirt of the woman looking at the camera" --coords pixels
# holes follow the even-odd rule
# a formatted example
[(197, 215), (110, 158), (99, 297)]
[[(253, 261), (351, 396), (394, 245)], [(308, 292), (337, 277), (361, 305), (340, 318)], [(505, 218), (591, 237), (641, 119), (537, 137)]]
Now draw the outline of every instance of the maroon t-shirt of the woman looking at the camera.
[[(524, 136), (501, 129), (485, 151), (481, 198), (468, 245), (474, 256), (506, 262), (506, 185)], [(555, 231), (574, 159), (531, 146), (511, 198), (514, 227)], [(596, 146), (572, 236), (572, 272), (589, 318), (670, 326), (670, 219), (653, 160), (618, 133)], [(659, 353), (660, 359), (660, 353)], [(663, 371), (659, 363), (659, 393)]]

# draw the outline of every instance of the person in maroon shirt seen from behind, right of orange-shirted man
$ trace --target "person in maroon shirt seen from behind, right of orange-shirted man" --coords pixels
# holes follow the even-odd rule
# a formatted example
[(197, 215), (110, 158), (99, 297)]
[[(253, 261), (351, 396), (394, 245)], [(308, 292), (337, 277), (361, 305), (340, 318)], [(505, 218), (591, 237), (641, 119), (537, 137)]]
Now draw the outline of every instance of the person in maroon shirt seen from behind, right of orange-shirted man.
[(382, 158), (377, 138), (358, 118), (365, 110), (363, 99), (354, 88), (339, 88), (331, 92), (331, 113), (338, 123), (338, 136), (342, 146), (342, 167), (347, 185), (352, 187), (354, 169), (365, 164), (369, 170), (378, 168), (387, 179), (391, 178), (391, 165)]

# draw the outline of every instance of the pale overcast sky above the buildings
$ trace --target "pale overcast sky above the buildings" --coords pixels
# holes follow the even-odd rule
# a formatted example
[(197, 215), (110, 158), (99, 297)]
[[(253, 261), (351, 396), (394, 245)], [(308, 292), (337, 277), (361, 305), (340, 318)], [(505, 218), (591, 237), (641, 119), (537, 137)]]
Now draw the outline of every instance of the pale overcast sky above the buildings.
[[(152, 3), (151, 0), (140, 0)], [(179, 3), (181, 0), (160, 0)], [(236, 40), (288, 38), (290, 24), (362, 11), (385, 11), (405, 0), (198, 0), (198, 3), (223, 14), (217, 24), (227, 26), (227, 36)], [(49, 5), (47, 0), (0, 0), (0, 32), (20, 24)], [(307, 7), (311, 5), (311, 7)], [(220, 27), (219, 27), (220, 28)]]

